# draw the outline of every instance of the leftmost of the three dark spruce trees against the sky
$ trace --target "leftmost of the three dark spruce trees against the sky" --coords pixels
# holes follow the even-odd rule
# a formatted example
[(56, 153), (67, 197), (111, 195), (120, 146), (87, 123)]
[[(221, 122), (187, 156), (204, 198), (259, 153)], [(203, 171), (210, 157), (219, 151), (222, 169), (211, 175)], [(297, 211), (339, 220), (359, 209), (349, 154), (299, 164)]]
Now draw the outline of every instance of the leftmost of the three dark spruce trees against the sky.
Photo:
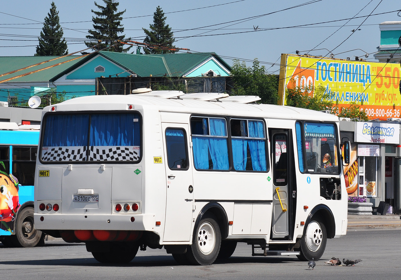
[(67, 55), (67, 43), (63, 37), (63, 28), (60, 26), (59, 11), (54, 2), (51, 3), (50, 12), (45, 17), (41, 37), (38, 37), (39, 45), (35, 55)]

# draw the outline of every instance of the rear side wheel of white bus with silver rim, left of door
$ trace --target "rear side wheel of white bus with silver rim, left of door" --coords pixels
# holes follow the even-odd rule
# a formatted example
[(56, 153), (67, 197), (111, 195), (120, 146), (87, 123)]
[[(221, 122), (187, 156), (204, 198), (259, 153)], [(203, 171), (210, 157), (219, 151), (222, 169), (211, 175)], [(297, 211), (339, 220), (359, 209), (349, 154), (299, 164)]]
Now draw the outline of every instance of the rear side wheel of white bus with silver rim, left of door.
[(186, 252), (188, 261), (203, 266), (213, 264), (221, 245), (221, 233), (216, 217), (212, 214), (204, 215), (194, 233), (192, 245), (188, 246)]

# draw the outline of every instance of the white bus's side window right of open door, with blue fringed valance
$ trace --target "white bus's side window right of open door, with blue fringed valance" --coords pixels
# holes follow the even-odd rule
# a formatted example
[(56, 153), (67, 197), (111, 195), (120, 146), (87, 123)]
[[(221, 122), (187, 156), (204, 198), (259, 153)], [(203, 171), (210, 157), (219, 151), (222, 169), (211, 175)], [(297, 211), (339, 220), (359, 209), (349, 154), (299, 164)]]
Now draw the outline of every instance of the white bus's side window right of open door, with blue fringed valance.
[[(301, 171), (338, 173), (337, 140), (334, 124), (304, 122), (303, 132), (306, 160), (305, 170)], [(297, 128), (297, 138), (299, 136)], [(298, 152), (300, 152), (299, 149)]]

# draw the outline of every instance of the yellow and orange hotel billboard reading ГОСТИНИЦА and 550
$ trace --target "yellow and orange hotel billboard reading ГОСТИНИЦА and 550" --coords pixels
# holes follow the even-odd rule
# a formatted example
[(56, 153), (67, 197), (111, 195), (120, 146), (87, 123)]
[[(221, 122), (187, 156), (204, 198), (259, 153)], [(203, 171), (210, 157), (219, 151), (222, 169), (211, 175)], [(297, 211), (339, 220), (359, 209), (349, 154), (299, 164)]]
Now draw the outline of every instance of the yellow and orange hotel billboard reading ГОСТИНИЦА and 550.
[(304, 55), (282, 54), (279, 77), (279, 105), (286, 105), (286, 89), (322, 85), (323, 98), (338, 104), (339, 110), (353, 104), (365, 110), (370, 120), (400, 118), (400, 64), (350, 61)]

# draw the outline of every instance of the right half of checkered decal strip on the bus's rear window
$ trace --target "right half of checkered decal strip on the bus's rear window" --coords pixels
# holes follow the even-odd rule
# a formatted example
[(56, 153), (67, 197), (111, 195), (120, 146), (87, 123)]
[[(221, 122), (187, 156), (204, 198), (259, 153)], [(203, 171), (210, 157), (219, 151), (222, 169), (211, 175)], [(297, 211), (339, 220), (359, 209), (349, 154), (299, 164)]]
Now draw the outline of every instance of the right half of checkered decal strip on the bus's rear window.
[(139, 154), (133, 150), (132, 146), (90, 146), (89, 160), (104, 161), (135, 161), (138, 160)]

